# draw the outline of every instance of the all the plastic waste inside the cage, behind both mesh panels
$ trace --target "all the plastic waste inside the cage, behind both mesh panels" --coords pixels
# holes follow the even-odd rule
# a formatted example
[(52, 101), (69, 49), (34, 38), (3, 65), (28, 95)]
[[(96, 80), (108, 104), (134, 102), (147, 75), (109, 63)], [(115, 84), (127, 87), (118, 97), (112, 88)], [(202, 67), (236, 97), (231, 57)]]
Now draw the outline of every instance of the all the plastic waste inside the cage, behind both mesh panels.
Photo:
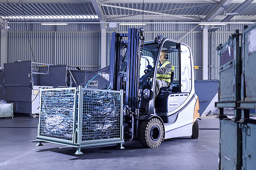
[(82, 141), (120, 138), (120, 93), (87, 89), (81, 93), (83, 102), (78, 105), (80, 94), (75, 89), (42, 90), (39, 135), (71, 141), (81, 110)]

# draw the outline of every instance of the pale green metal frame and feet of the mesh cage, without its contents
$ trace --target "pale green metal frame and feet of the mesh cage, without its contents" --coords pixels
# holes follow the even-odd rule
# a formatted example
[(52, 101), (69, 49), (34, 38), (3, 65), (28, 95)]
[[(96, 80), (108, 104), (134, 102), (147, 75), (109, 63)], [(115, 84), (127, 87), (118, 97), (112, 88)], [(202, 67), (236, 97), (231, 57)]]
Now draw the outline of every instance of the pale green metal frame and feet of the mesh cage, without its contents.
[[(52, 137), (43, 136), (40, 134), (40, 123), (42, 119), (42, 93), (45, 91), (57, 91), (57, 90), (74, 90), (76, 94), (74, 97), (74, 107), (73, 107), (73, 133), (72, 140), (65, 139), (57, 139)], [(119, 132), (120, 136), (118, 138), (109, 138), (109, 139), (95, 139), (95, 140), (82, 140), (82, 127), (83, 127), (83, 95), (84, 91), (94, 91), (94, 92), (107, 92), (107, 93), (115, 93), (120, 96), (120, 112), (119, 112)], [(82, 86), (71, 87), (71, 88), (56, 88), (56, 89), (41, 89), (40, 91), (40, 113), (39, 113), (39, 123), (38, 123), (38, 136), (36, 137), (39, 141), (58, 143), (67, 146), (72, 146), (77, 148), (76, 154), (81, 154), (80, 148), (82, 147), (93, 147), (93, 146), (104, 146), (104, 145), (112, 145), (112, 144), (120, 144), (122, 148), (122, 143), (124, 143), (123, 139), (123, 91), (114, 91), (114, 90), (103, 90), (103, 89), (87, 89), (82, 88)], [(79, 151), (78, 151), (79, 149)]]

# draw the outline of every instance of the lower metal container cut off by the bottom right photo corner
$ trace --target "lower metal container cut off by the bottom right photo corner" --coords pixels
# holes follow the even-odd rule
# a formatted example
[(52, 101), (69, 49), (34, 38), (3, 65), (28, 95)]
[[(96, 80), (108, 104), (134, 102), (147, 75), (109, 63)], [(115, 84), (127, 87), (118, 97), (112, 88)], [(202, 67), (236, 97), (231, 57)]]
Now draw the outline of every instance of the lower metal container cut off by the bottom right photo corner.
[(241, 124), (242, 128), (242, 170), (254, 170), (256, 167), (256, 124)]

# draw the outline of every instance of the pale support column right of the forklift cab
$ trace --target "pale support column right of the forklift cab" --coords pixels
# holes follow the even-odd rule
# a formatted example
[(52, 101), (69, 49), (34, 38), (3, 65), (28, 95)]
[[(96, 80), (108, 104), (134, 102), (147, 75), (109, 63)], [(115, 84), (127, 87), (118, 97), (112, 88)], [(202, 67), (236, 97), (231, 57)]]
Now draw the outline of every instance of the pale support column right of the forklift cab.
[(203, 29), (203, 40), (202, 40), (202, 65), (203, 65), (203, 80), (208, 80), (208, 42), (209, 42), (209, 38), (208, 38), (208, 27), (209, 26), (204, 26)]

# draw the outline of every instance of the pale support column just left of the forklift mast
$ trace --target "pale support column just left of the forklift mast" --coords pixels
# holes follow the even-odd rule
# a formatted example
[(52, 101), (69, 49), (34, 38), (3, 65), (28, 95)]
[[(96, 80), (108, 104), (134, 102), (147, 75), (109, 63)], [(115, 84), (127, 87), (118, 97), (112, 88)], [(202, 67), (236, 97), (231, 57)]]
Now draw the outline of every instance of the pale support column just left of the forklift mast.
[(100, 24), (101, 27), (101, 68), (106, 67), (106, 26), (105, 24)]

